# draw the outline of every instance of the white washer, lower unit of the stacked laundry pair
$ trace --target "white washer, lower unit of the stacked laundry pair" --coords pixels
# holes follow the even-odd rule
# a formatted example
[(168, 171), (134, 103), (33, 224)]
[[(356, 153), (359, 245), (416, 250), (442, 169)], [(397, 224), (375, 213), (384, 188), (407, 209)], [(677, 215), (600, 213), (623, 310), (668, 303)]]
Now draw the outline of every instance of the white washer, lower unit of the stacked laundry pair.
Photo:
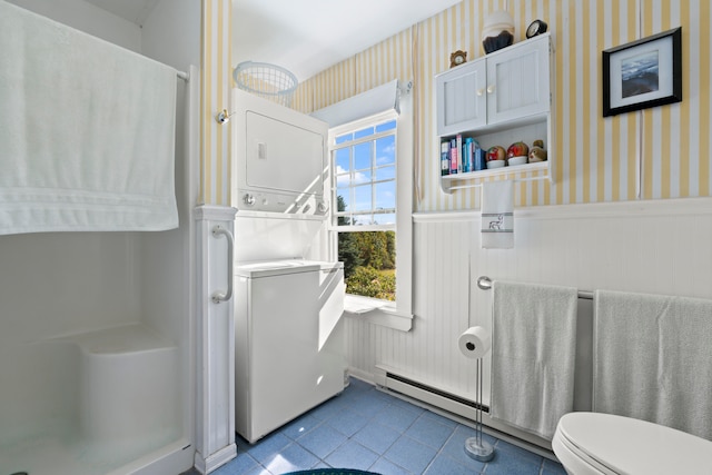
[(342, 263), (235, 270), (235, 427), (249, 443), (344, 390)]

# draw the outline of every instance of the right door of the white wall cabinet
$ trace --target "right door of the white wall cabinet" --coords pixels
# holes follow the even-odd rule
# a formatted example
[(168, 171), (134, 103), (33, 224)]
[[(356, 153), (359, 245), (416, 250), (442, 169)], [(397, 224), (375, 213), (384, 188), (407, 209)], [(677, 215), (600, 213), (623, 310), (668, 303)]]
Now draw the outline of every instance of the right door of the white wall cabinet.
[(548, 37), (487, 58), (487, 122), (550, 110)]

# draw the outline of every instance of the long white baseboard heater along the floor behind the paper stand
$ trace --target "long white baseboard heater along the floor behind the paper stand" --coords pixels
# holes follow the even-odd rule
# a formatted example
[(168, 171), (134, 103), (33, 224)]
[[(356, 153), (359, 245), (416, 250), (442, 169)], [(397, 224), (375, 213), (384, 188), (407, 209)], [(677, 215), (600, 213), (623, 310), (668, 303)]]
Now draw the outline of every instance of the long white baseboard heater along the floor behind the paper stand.
[[(435, 412), (443, 412), (442, 415), (448, 416), (459, 423), (473, 425), (475, 420), (476, 403), (466, 397), (459, 396), (454, 392), (437, 388), (432, 385), (416, 380), (414, 377), (405, 376), (397, 373), (396, 369), (376, 365), (374, 373), (374, 383), (382, 390), (395, 393), (405, 396), (414, 403), (422, 403)], [(547, 458), (552, 458), (552, 446), (548, 441), (537, 437), (533, 434), (520, 431), (504, 423), (490, 417), (490, 406), (483, 404), (483, 424), (484, 431), (491, 433), (495, 437), (504, 438), (515, 445), (525, 447), (528, 451), (538, 453)], [(544, 451), (541, 451), (541, 449)]]

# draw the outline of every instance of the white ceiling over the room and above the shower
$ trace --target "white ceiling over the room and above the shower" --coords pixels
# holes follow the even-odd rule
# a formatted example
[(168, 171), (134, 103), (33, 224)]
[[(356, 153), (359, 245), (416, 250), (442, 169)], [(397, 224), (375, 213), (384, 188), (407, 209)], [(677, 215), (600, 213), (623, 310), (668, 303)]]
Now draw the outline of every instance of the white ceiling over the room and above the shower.
[[(161, 0), (87, 0), (144, 24)], [(462, 0), (231, 0), (233, 67), (281, 66), (304, 81)]]

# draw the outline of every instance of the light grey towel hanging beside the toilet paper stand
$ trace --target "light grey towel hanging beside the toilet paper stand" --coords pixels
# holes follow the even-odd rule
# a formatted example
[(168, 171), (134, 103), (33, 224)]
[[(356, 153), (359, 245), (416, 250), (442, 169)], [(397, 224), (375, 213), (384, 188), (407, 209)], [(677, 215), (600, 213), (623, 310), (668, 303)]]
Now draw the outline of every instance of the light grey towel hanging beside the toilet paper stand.
[(552, 439), (573, 410), (578, 293), (494, 281), (490, 414)]

